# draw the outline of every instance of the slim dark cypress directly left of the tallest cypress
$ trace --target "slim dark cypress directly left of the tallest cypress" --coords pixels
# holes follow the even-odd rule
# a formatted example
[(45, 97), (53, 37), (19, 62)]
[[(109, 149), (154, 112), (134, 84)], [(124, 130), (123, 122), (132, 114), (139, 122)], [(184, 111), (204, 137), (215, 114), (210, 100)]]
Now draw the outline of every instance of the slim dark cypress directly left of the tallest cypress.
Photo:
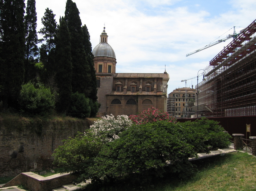
[(58, 72), (55, 76), (59, 100), (56, 109), (59, 112), (67, 112), (72, 94), (72, 62), (71, 62), (71, 38), (64, 18), (61, 19), (56, 43), (56, 64)]

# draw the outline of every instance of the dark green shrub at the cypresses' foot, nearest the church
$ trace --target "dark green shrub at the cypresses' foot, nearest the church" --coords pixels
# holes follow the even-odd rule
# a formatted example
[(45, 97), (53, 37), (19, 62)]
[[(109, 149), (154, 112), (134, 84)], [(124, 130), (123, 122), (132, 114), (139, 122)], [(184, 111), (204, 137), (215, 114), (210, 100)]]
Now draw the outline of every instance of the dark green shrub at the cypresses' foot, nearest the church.
[(67, 115), (77, 118), (86, 118), (90, 116), (91, 108), (89, 106), (89, 98), (84, 93), (73, 93), (71, 95), (71, 106)]

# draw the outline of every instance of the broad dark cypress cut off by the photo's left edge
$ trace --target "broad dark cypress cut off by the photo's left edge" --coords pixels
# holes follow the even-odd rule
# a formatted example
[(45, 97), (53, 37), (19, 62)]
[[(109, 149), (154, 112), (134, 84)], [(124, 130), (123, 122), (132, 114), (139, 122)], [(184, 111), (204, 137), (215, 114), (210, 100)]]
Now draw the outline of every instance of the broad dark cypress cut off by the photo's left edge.
[(0, 99), (3, 107), (17, 108), (24, 82), (24, 0), (0, 2)]

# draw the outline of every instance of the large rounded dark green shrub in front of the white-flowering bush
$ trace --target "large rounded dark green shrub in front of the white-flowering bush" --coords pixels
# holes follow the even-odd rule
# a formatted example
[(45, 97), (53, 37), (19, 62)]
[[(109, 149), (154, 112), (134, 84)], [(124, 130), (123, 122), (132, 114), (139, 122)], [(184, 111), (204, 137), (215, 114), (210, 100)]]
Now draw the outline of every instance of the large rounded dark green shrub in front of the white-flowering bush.
[(129, 127), (103, 146), (90, 167), (90, 177), (109, 181), (131, 175), (141, 182), (163, 176), (166, 167), (171, 172), (192, 172), (188, 158), (196, 153), (185, 139), (171, 133), (172, 128), (173, 123), (166, 121)]

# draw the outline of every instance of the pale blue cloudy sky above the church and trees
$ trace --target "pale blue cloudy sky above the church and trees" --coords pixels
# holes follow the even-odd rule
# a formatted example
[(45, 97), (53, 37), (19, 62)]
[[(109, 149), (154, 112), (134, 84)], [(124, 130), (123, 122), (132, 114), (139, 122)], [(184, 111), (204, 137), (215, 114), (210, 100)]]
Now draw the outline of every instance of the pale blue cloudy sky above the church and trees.
[[(232, 38), (186, 57), (192, 51), (247, 27), (256, 19), (255, 0), (73, 0), (92, 49), (106, 27), (115, 51), (117, 73), (169, 74), (168, 94), (176, 88), (195, 88), (211, 59)], [(36, 0), (37, 30), (49, 8), (64, 16), (66, 0)], [(199, 83), (202, 76), (199, 77)]]

